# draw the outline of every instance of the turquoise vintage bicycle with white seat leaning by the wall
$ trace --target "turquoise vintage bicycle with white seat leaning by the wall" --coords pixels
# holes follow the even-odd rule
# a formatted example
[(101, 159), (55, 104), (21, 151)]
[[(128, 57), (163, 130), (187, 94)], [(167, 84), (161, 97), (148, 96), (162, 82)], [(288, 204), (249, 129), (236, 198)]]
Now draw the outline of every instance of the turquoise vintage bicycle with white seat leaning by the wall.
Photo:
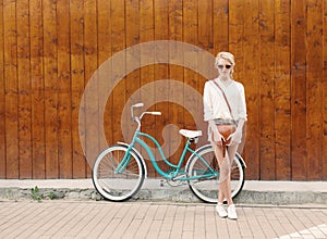
[[(144, 115), (161, 115), (161, 112), (143, 112), (141, 116), (134, 116), (134, 109), (142, 108), (143, 103), (131, 106), (131, 116), (137, 123), (131, 143), (118, 142), (105, 149), (97, 156), (92, 178), (96, 190), (107, 200), (124, 201), (131, 199), (141, 189), (144, 179), (147, 177), (147, 167), (142, 153), (136, 150), (138, 143), (148, 154), (149, 160), (160, 176), (168, 183), (189, 184), (192, 192), (202, 201), (217, 203), (219, 167), (215, 158), (214, 149), (210, 144), (203, 146), (196, 150), (191, 148), (191, 143), (196, 143), (202, 136), (201, 130), (180, 129), (180, 134), (187, 138), (183, 152), (178, 164), (167, 160), (159, 142), (150, 135), (142, 133), (142, 118)], [(150, 147), (143, 140), (149, 139), (158, 148), (159, 156), (169, 166), (168, 171), (162, 171), (155, 159)], [(144, 152), (142, 150), (142, 152)], [(191, 153), (185, 166), (185, 155)], [(189, 153), (189, 155), (190, 155)], [(245, 163), (237, 153), (231, 171), (231, 194), (237, 197), (243, 188), (245, 179)]]

